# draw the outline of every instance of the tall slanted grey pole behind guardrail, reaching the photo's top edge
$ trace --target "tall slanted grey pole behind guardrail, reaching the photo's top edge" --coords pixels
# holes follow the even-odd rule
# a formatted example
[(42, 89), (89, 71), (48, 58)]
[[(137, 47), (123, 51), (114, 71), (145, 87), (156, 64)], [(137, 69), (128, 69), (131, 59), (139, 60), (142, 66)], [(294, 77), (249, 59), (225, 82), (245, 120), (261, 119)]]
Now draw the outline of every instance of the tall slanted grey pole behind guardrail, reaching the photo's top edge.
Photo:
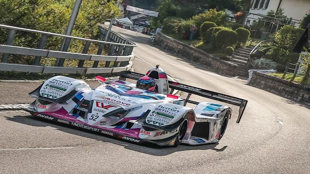
[[(81, 3), (82, 3), (82, 0), (76, 0), (74, 7), (73, 7), (73, 10), (72, 10), (72, 13), (71, 13), (71, 16), (70, 16), (70, 20), (69, 20), (65, 35), (71, 36), (72, 30), (74, 28), (74, 24), (76, 23), (76, 20), (77, 20), (79, 8), (81, 7)], [(60, 51), (67, 52), (69, 49), (70, 41), (71, 41), (71, 39), (69, 39), (69, 38), (63, 38)], [(56, 61), (56, 66), (62, 67), (63, 63), (64, 63), (64, 59), (58, 58)]]

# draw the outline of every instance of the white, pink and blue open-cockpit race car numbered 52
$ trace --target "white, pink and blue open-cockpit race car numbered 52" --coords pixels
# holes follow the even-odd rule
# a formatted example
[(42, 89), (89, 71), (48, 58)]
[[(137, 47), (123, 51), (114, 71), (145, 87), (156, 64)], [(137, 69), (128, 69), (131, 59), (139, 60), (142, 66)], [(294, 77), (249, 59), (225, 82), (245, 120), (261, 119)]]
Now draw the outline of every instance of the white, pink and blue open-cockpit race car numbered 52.
[[(137, 88), (126, 78), (154, 79), (156, 92)], [(158, 66), (146, 74), (122, 72), (119, 79), (97, 76), (99, 87), (78, 79), (54, 76), (29, 93), (36, 98), (25, 111), (33, 116), (100, 132), (123, 140), (156, 145), (202, 145), (224, 135), (232, 109), (222, 104), (189, 100), (192, 94), (240, 106), (239, 123), (247, 100), (169, 81)], [(186, 99), (175, 94), (188, 93)], [(187, 103), (196, 108), (186, 107)]]

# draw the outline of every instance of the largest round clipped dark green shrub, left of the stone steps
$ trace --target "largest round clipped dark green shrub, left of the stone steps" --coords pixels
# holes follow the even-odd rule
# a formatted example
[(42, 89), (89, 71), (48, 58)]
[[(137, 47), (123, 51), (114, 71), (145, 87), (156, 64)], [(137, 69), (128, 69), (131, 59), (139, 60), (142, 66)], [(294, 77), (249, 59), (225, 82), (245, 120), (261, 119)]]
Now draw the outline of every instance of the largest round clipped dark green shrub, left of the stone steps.
[(231, 29), (221, 29), (216, 33), (217, 49), (226, 48), (227, 46), (233, 46), (237, 43), (238, 34)]

